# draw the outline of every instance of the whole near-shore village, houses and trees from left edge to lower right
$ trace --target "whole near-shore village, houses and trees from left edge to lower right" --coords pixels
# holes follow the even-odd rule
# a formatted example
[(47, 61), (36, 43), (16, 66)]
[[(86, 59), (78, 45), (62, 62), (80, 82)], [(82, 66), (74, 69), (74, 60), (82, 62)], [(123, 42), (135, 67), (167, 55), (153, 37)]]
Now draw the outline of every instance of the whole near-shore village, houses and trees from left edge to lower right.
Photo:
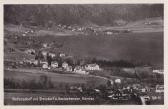
[[(93, 75), (107, 80), (107, 86), (105, 90), (99, 88), (93, 89), (83, 89), (81, 86), (69, 86), (69, 91), (77, 91), (76, 93), (89, 94), (89, 96), (101, 96), (102, 92), (106, 93), (105, 99), (110, 99), (112, 101), (121, 100), (140, 100), (142, 104), (150, 104), (151, 101), (162, 100), (164, 93), (164, 86), (162, 84), (157, 84), (156, 86), (150, 86), (146, 83), (140, 82), (139, 77), (136, 77), (135, 83), (127, 83), (127, 80), (120, 78), (111, 79), (110, 76), (104, 75), (103, 72), (106, 72), (106, 69), (100, 67), (99, 64), (87, 63), (84, 59), (74, 59), (73, 56), (67, 55), (65, 53), (54, 53), (47, 51), (52, 48), (53, 43), (43, 43), (40, 50), (35, 49), (26, 49), (24, 51), (27, 55), (32, 55), (34, 58), (26, 59), (23, 58), (20, 61), (5, 61), (5, 69), (37, 69), (47, 72), (60, 72), (61, 74), (78, 74), (78, 75)], [(135, 67), (135, 68), (120, 68), (121, 72), (131, 73), (131, 75), (137, 75), (136, 72), (146, 72), (163, 75), (163, 70), (152, 69), (152, 67)], [(17, 70), (16, 70), (17, 71)], [(100, 73), (96, 73), (100, 72)], [(151, 74), (150, 74), (151, 75)], [(121, 76), (121, 75), (118, 75)], [(141, 77), (140, 77), (141, 78)], [(139, 82), (137, 82), (137, 80)], [(123, 85), (123, 83), (126, 83)], [(86, 90), (86, 91), (84, 91)], [(153, 94), (153, 93), (156, 93)], [(135, 100), (135, 101), (136, 101)]]

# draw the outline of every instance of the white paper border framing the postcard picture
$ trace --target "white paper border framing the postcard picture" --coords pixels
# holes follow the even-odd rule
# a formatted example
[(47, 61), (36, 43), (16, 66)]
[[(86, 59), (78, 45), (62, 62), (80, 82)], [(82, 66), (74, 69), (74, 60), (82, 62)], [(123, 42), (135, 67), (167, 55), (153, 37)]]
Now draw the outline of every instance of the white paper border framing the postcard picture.
[[(4, 106), (4, 91), (3, 91), (3, 5), (4, 4), (145, 4), (145, 3), (164, 3), (164, 85), (165, 85), (165, 100), (164, 105), (36, 105), (36, 106), (22, 106), (22, 105), (11, 105)], [(0, 1), (0, 109), (168, 109), (168, 54), (167, 54), (167, 31), (168, 31), (168, 1), (167, 0), (1, 0)]]

